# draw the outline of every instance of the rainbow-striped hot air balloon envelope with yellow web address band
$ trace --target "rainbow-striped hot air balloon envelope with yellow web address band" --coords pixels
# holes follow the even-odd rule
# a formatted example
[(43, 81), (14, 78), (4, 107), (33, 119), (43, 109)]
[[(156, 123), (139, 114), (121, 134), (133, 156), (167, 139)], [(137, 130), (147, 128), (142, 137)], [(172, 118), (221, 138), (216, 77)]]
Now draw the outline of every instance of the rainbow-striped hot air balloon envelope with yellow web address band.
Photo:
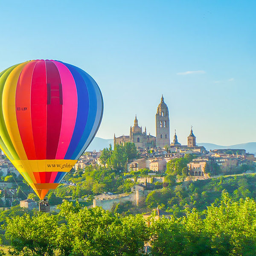
[(0, 99), (0, 148), (43, 199), (93, 140), (101, 91), (78, 67), (32, 60), (0, 73)]

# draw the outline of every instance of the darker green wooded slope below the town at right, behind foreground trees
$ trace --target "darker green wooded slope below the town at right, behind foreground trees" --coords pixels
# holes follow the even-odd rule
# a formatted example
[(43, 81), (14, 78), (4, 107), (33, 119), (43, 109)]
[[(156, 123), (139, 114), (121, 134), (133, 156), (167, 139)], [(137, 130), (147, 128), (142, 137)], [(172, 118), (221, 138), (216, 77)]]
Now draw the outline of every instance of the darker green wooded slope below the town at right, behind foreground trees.
[(199, 211), (207, 209), (221, 198), (223, 191), (228, 192), (235, 201), (256, 198), (255, 184), (255, 174), (187, 181), (150, 192), (145, 203), (149, 208), (160, 207), (180, 217), (186, 215), (187, 208)]

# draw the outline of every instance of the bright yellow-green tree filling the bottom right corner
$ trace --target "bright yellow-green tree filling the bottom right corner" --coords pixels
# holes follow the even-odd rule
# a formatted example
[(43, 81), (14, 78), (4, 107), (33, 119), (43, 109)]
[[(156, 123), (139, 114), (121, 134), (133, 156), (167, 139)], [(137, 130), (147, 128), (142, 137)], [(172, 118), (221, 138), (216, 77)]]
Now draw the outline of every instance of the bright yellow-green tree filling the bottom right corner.
[(256, 202), (253, 199), (237, 202), (224, 192), (219, 204), (208, 207), (204, 223), (221, 255), (256, 255)]

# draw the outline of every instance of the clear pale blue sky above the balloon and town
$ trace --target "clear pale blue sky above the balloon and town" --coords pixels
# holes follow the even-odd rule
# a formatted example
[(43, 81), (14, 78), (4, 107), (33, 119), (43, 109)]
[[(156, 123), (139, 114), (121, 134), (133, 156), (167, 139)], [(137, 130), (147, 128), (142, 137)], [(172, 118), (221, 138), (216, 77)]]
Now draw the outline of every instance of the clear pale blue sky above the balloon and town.
[(99, 84), (97, 137), (155, 135), (160, 97), (186, 143), (256, 141), (256, 1), (0, 1), (0, 70), (29, 59), (81, 67)]

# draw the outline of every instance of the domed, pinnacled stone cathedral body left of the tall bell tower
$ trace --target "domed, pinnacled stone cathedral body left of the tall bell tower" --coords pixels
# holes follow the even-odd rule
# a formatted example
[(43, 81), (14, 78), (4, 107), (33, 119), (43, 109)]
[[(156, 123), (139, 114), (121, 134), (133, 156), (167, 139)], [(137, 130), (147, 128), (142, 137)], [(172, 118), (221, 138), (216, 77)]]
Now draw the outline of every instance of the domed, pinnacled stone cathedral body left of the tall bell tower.
[(122, 145), (125, 142), (133, 142), (137, 148), (154, 148), (156, 146), (156, 137), (147, 135), (147, 130), (142, 131), (142, 127), (138, 125), (137, 116), (134, 119), (134, 126), (130, 127), (130, 136), (122, 135), (116, 137), (114, 134), (114, 146), (116, 144)]

